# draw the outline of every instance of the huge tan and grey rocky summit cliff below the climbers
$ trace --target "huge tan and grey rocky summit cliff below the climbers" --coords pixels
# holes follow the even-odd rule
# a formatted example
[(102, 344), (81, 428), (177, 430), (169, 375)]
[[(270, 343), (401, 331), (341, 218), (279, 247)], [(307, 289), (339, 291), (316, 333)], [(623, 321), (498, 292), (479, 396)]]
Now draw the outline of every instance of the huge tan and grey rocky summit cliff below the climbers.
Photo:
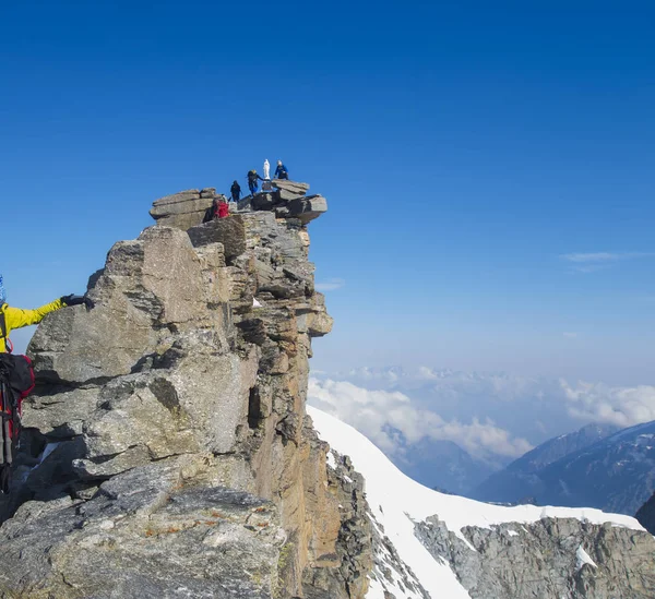
[(213, 196), (155, 202), (91, 277), (96, 308), (37, 330), (0, 597), (364, 597), (361, 483), (329, 471), (305, 411), (332, 327), (308, 218), (198, 226)]

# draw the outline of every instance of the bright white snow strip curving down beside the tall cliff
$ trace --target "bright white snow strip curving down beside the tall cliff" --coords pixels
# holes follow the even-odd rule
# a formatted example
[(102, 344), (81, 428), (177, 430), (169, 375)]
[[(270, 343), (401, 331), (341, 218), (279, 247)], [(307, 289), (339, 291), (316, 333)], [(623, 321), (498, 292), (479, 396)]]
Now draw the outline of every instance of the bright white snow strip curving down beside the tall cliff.
[[(630, 516), (606, 514), (599, 510), (535, 505), (507, 507), (432, 491), (401, 472), (376, 445), (353, 427), (311, 406), (307, 406), (307, 412), (311, 416), (319, 436), (340, 454), (349, 456), (354, 468), (364, 476), (366, 496), (376, 520), (384, 528), (384, 535), (394, 544), (401, 560), (409, 566), (433, 599), (469, 599), (471, 596), (460, 585), (450, 566), (434, 560), (414, 536), (414, 523), (429, 516), (438, 516), (449, 530), (467, 544), (469, 543), (461, 530), (465, 526), (490, 528), (503, 523), (534, 523), (547, 517), (577, 518), (592, 524), (611, 523), (615, 526), (644, 530)], [(333, 457), (330, 453), (327, 456), (330, 463)], [(579, 560), (584, 560), (582, 552), (579, 550)], [(393, 586), (406, 599), (421, 599), (396, 584)], [(379, 582), (371, 580), (367, 599), (384, 599)]]

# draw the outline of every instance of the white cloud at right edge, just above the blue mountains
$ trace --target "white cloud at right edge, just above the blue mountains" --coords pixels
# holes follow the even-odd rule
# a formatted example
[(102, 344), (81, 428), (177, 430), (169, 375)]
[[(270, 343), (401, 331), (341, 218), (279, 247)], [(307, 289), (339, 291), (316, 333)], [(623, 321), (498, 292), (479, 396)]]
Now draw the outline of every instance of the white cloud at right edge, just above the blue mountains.
[(561, 381), (569, 414), (586, 422), (632, 427), (655, 420), (655, 386), (610, 387)]

